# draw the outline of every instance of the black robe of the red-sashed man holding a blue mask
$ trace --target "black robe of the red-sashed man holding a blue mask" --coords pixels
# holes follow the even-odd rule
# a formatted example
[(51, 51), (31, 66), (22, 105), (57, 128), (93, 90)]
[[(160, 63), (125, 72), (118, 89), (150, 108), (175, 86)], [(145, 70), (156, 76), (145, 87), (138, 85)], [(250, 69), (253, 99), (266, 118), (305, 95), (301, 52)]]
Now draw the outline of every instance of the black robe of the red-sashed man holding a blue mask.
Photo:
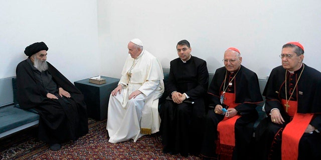
[[(242, 115), (235, 122), (236, 143), (233, 159), (248, 159), (247, 155), (251, 154), (249, 145), (253, 134), (253, 124), (258, 118), (258, 113), (255, 108), (257, 103), (263, 101), (263, 98), (255, 72), (243, 65), (233, 73), (227, 72), (225, 88), (227, 88), (227, 86), (228, 88), (226, 92), (235, 93), (235, 103), (239, 103), (235, 109), (238, 111), (238, 114)], [(208, 91), (209, 106), (215, 108), (217, 104), (222, 105), (220, 95), (224, 88), (225, 75), (225, 66), (216, 69)], [(229, 81), (233, 77), (232, 85), (229, 85)], [(205, 132), (201, 152), (203, 156), (212, 158), (217, 157), (215, 154), (217, 125), (224, 118), (224, 115), (214, 113), (214, 108), (210, 108), (205, 117)]]

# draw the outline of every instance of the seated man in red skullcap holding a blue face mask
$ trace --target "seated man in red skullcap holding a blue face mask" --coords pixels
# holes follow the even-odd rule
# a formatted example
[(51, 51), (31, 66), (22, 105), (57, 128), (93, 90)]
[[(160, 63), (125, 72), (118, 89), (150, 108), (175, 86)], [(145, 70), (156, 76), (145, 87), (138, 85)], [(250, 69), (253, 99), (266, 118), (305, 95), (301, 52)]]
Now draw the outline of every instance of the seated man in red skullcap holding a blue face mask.
[[(263, 101), (255, 72), (241, 65), (237, 48), (224, 53), (208, 90), (209, 110), (201, 155), (204, 159), (248, 159), (255, 109)], [(224, 109), (226, 109), (224, 111)]]

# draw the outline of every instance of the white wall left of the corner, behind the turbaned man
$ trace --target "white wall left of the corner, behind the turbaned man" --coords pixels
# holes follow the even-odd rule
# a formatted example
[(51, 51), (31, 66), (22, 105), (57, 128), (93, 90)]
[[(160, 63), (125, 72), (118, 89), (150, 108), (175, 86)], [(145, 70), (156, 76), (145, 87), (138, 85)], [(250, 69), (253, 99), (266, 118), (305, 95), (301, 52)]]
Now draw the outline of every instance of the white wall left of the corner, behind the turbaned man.
[(0, 78), (15, 76), (37, 41), (70, 81), (100, 73), (96, 0), (0, 0), (0, 15)]

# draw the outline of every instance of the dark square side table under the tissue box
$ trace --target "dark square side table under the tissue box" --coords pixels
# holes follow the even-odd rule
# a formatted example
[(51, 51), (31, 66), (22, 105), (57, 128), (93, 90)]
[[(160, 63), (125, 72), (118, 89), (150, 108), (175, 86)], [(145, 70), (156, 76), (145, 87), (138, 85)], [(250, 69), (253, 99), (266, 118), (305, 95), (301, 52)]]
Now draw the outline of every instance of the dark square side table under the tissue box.
[(119, 81), (119, 78), (101, 77), (106, 79), (106, 83), (90, 83), (88, 78), (74, 82), (75, 86), (84, 94), (88, 117), (96, 120), (107, 118), (109, 96), (111, 91), (117, 87)]

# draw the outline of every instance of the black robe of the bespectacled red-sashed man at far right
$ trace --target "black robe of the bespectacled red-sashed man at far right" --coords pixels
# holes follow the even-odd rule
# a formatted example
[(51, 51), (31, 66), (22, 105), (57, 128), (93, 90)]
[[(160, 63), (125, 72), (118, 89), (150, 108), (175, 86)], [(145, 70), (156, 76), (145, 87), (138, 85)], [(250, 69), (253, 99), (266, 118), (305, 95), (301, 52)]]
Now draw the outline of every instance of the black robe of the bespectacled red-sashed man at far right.
[[(287, 98), (289, 89), (294, 89), (290, 100), (297, 101), (298, 113), (314, 113), (310, 124), (321, 130), (321, 73), (304, 64), (304, 70), (294, 88), (303, 65), (290, 74), (287, 71)], [(257, 153), (259, 159), (281, 159), (282, 130), (290, 122), (290, 116), (285, 112), (281, 99), (285, 99), (285, 69), (280, 65), (275, 67), (266, 83), (263, 95), (266, 97), (265, 112), (268, 115), (263, 119), (256, 130)], [(285, 120), (283, 124), (275, 124), (269, 115), (272, 108), (278, 108)], [(309, 144), (310, 143), (310, 144)], [(299, 141), (298, 159), (321, 159), (321, 134), (304, 133)]]

